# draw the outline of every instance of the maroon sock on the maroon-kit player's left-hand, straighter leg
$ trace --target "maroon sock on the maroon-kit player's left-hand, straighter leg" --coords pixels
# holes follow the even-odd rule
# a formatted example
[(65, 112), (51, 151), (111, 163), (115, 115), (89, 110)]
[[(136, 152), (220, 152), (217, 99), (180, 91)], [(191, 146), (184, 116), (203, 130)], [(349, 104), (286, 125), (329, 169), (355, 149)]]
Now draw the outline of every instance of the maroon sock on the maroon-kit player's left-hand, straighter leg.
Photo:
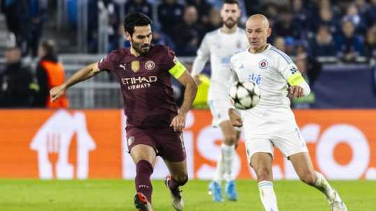
[(151, 203), (152, 196), (152, 184), (150, 181), (150, 175), (152, 174), (152, 164), (142, 159), (136, 164), (136, 192), (141, 192), (148, 198)]

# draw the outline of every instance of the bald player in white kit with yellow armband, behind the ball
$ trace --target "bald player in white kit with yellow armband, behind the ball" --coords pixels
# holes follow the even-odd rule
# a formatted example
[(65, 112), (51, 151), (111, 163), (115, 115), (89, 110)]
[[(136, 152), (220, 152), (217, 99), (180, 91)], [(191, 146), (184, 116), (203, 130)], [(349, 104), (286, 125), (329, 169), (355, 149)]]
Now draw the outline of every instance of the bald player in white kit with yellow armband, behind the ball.
[[(288, 93), (302, 97), (310, 88), (291, 59), (272, 45), (267, 37), (272, 29), (264, 15), (252, 15), (246, 22), (246, 36), (250, 47), (230, 60), (233, 81), (251, 80), (260, 88), (260, 101), (253, 109), (229, 109), (234, 125), (243, 126), (249, 164), (256, 172), (260, 198), (267, 211), (277, 211), (273, 189), (273, 146), (279, 148), (294, 166), (301, 181), (322, 192), (331, 210), (347, 210), (324, 176), (314, 171), (306, 143), (300, 135), (295, 116), (290, 109)], [(288, 88), (289, 84), (289, 88)]]

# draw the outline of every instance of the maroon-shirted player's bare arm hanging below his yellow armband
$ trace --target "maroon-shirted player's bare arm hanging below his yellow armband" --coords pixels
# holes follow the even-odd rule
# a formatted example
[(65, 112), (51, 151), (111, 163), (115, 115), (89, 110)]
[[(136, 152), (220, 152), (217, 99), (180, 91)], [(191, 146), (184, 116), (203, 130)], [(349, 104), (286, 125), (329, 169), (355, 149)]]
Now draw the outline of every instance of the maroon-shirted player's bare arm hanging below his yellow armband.
[(175, 131), (181, 131), (185, 127), (185, 116), (187, 116), (187, 113), (191, 108), (192, 102), (194, 101), (194, 97), (196, 97), (197, 93), (196, 81), (194, 81), (193, 77), (189, 75), (187, 70), (185, 70), (185, 72), (178, 78), (178, 81), (180, 84), (185, 86), (185, 92), (179, 114), (171, 121), (170, 126), (173, 127), (173, 130)]

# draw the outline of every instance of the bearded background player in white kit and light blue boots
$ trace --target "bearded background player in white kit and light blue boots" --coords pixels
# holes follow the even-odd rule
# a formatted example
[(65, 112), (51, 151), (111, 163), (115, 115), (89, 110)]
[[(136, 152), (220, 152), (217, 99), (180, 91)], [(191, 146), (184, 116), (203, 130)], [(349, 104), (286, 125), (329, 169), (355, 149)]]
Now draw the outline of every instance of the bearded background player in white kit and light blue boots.
[[(241, 11), (239, 1), (225, 0), (221, 9), (223, 26), (215, 31), (207, 33), (203, 38), (197, 57), (194, 60), (191, 75), (198, 81), (198, 75), (203, 70), (205, 63), (210, 59), (212, 75), (208, 102), (213, 116), (213, 126), (220, 127), (224, 136), (221, 145), (221, 155), (217, 161), (217, 169), (214, 178), (209, 185), (213, 200), (221, 202), (221, 182), (226, 180), (226, 196), (230, 201), (237, 199), (235, 178), (232, 173), (235, 156), (235, 145), (239, 139), (237, 132), (230, 123), (228, 109), (228, 88), (230, 84), (230, 57), (248, 47), (245, 31), (237, 27)], [(198, 81), (199, 83), (199, 81)]]

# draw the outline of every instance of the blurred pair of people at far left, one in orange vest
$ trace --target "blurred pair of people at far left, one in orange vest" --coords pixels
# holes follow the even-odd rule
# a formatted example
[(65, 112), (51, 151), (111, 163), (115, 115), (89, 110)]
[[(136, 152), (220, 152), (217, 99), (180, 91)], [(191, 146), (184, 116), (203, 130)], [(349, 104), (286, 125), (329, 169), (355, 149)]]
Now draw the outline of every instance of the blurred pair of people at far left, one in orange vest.
[(14, 35), (7, 42), (5, 64), (0, 66), (0, 107), (68, 108), (65, 95), (55, 102), (49, 97), (49, 90), (65, 81), (54, 40), (40, 43), (35, 65), (22, 60), (22, 48), (17, 46)]

